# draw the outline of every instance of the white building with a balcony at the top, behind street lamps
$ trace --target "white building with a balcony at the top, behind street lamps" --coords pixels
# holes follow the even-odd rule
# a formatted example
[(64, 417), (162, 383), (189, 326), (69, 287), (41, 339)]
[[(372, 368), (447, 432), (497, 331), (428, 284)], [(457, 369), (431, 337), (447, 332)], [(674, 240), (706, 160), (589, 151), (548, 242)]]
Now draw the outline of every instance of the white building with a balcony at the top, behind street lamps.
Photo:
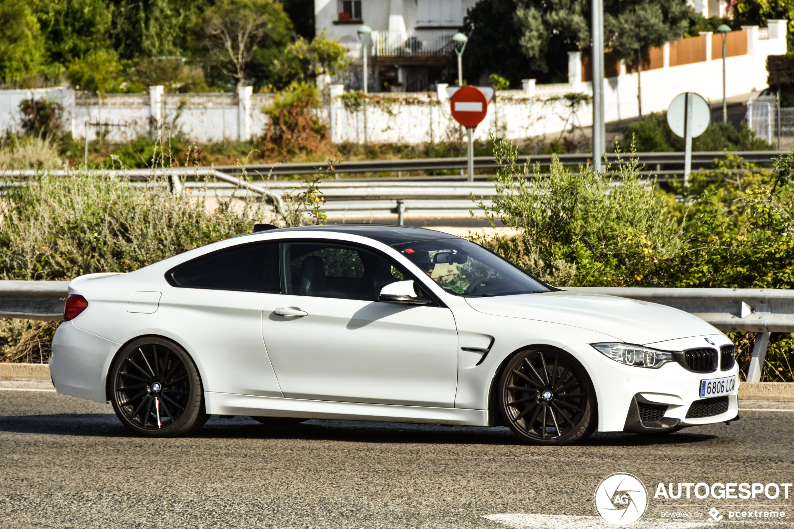
[[(476, 0), (314, 0), (314, 26), (326, 30), (361, 63), (357, 29), (372, 28), (369, 90), (414, 92), (434, 90), (453, 53), (450, 40)], [(345, 87), (361, 88), (360, 68), (351, 68)]]

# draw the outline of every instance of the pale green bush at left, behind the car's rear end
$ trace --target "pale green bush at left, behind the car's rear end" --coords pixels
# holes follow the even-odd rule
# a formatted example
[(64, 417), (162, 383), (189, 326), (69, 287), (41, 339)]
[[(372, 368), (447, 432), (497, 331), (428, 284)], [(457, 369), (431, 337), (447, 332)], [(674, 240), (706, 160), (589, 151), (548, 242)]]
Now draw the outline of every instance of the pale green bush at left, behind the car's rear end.
[(250, 232), (264, 218), (252, 198), (175, 196), (102, 173), (37, 178), (10, 187), (0, 224), (3, 279), (71, 279), (129, 272), (195, 247)]

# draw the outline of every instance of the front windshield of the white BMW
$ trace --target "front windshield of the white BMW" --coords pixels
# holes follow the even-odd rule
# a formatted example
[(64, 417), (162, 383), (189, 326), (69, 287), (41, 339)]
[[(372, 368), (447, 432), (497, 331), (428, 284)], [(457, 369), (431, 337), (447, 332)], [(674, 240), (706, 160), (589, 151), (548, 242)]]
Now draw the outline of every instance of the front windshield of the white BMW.
[(396, 244), (445, 291), (457, 296), (506, 296), (549, 292), (537, 278), (499, 255), (464, 239), (423, 240)]

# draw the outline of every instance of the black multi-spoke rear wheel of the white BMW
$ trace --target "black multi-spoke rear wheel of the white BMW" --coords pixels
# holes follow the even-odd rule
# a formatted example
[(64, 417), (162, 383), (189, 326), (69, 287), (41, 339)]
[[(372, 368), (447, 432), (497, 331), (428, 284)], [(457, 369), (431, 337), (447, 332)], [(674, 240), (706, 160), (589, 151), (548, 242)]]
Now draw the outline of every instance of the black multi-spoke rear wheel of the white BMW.
[(186, 435), (209, 418), (195, 364), (182, 347), (166, 339), (129, 343), (115, 358), (110, 380), (116, 415), (139, 435)]

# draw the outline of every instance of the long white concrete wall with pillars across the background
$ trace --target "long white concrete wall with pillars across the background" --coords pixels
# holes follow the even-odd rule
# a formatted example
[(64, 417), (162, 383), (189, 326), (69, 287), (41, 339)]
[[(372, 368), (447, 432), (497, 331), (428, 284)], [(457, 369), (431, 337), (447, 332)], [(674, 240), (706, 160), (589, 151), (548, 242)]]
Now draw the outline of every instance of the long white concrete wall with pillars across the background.
[[(334, 3), (333, 6), (336, 6)], [(335, 9), (335, 7), (334, 7)], [(768, 38), (760, 38), (768, 35)], [(747, 94), (766, 86), (766, 57), (786, 52), (785, 21), (769, 21), (764, 32), (748, 28), (748, 53), (729, 57), (727, 95)], [(669, 56), (669, 53), (666, 54)], [(711, 57), (711, 54), (708, 54)], [(476, 129), (480, 140), (491, 131), (508, 138), (526, 138), (557, 134), (571, 126), (592, 124), (592, 109), (581, 105), (576, 116), (560, 98), (580, 92), (592, 94), (592, 84), (581, 82), (581, 57), (569, 54), (569, 81), (554, 85), (535, 85), (531, 79), (525, 90), (504, 90), (488, 106), (488, 115)], [(669, 64), (669, 60), (665, 60)], [(638, 115), (637, 74), (604, 80), (604, 110), (607, 121)], [(722, 60), (676, 67), (662, 67), (642, 72), (643, 113), (660, 112), (677, 94), (692, 91), (711, 101), (723, 95)], [(152, 127), (164, 134), (181, 131), (198, 143), (223, 140), (247, 140), (260, 137), (268, 126), (261, 109), (272, 101), (272, 94), (252, 94), (250, 87), (240, 94), (162, 94), (161, 87), (151, 87), (149, 94), (106, 94), (102, 105), (96, 94), (75, 94), (68, 86), (33, 90), (36, 98), (49, 98), (64, 105), (64, 128), (75, 138), (98, 136), (98, 127), (86, 121), (110, 124), (106, 137), (111, 141), (129, 141), (147, 133)], [(319, 111), (330, 121), (333, 142), (419, 144), (460, 138), (461, 128), (449, 114), (449, 102), (443, 86), (437, 93), (371, 94), (364, 111), (353, 112), (341, 104), (341, 86), (329, 88), (326, 107)], [(21, 115), (19, 102), (30, 98), (31, 90), (0, 91), (0, 126), (15, 131)], [(567, 125), (566, 125), (567, 122)]]

